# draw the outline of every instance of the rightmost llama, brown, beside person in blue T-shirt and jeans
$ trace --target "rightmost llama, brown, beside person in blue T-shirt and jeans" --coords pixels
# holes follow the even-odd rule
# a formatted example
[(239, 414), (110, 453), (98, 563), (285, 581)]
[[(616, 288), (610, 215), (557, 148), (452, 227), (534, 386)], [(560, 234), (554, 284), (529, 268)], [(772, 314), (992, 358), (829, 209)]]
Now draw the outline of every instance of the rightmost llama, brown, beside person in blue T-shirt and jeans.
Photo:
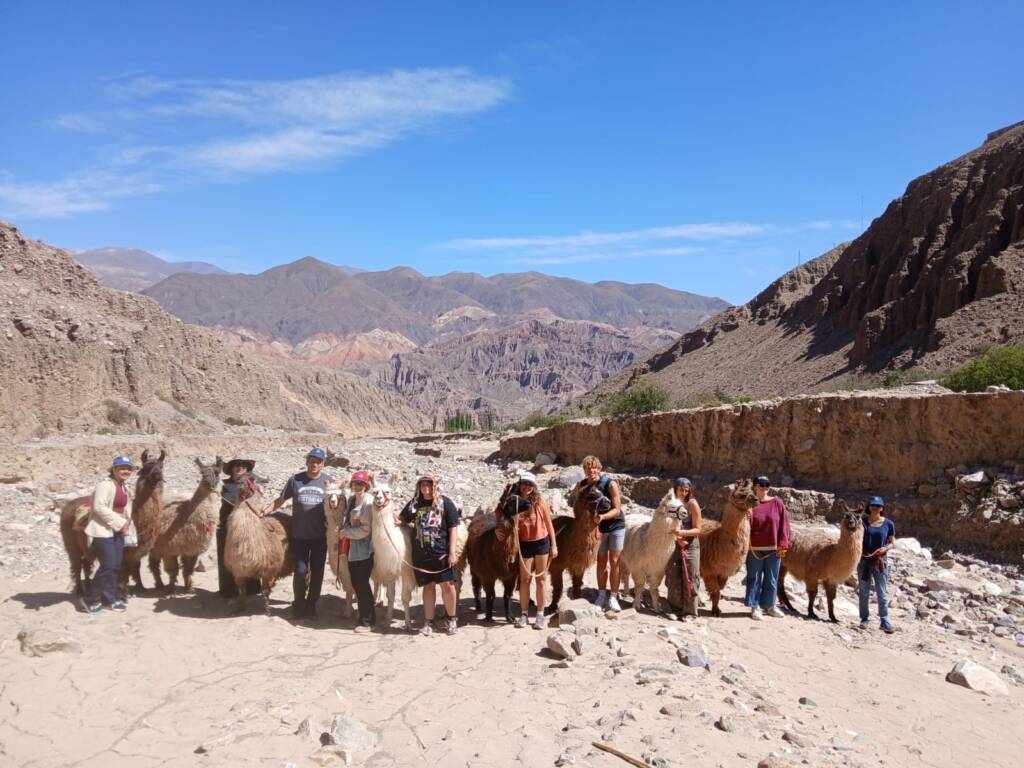
[(814, 598), (818, 594), (818, 582), (825, 585), (828, 599), (828, 618), (836, 622), (836, 589), (857, 569), (861, 547), (864, 543), (860, 515), (846, 510), (839, 527), (839, 540), (828, 530), (794, 530), (793, 543), (778, 573), (778, 596), (790, 610), (790, 596), (785, 594), (785, 574), (807, 585), (807, 617), (817, 618), (814, 613)]

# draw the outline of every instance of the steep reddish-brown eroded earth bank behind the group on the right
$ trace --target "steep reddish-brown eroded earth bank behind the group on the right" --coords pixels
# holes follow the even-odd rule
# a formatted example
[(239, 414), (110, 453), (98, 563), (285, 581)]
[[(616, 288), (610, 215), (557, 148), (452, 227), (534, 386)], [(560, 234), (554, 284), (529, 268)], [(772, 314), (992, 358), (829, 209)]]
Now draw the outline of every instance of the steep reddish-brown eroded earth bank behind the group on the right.
[(506, 437), (501, 453), (524, 460), (550, 453), (562, 463), (596, 454), (618, 470), (683, 474), (697, 484), (701, 503), (722, 483), (761, 473), (805, 492), (861, 499), (881, 494), (901, 535), (945, 546), (955, 539), (958, 549), (1019, 561), (1024, 391), (921, 390), (582, 419)]

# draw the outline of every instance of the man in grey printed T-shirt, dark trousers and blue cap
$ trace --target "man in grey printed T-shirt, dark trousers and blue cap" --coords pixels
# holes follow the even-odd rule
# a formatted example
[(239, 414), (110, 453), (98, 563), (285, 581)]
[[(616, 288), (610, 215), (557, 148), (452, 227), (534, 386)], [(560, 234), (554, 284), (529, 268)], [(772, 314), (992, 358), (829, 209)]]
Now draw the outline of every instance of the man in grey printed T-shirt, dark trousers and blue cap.
[(271, 512), (275, 511), (286, 501), (292, 500), (292, 556), (295, 558), (293, 618), (316, 618), (316, 601), (324, 586), (324, 567), (327, 565), (324, 500), (327, 487), (333, 481), (324, 472), (326, 461), (327, 452), (322, 447), (314, 447), (306, 454), (306, 471), (288, 478), (271, 509)]

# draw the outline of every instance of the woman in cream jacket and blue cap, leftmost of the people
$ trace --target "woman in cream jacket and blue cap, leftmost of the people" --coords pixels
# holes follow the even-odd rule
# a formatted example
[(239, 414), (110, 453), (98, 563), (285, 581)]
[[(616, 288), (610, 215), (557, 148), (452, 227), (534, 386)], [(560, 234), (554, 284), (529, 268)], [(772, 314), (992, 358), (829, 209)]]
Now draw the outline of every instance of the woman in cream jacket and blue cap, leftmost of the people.
[(96, 613), (105, 601), (113, 610), (128, 606), (118, 599), (117, 579), (124, 556), (125, 534), (131, 522), (131, 497), (126, 482), (135, 465), (127, 456), (116, 456), (111, 462), (111, 476), (96, 483), (92, 494), (92, 511), (85, 534), (92, 542), (92, 551), (99, 568), (92, 579), (85, 609)]

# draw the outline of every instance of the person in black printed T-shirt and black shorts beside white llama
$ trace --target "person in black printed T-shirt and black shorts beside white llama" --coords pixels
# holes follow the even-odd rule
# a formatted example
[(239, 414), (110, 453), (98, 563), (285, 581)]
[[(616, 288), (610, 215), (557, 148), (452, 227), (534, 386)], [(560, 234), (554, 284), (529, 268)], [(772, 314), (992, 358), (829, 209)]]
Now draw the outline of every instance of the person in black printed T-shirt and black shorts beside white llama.
[(421, 477), (416, 482), (416, 496), (398, 516), (402, 525), (413, 528), (413, 569), (416, 584), (423, 588), (423, 628), (421, 635), (433, 634), (435, 585), (439, 584), (441, 599), (449, 620), (444, 628), (449, 635), (458, 629), (456, 620), (455, 555), (459, 527), (459, 508), (442, 496), (433, 477)]

